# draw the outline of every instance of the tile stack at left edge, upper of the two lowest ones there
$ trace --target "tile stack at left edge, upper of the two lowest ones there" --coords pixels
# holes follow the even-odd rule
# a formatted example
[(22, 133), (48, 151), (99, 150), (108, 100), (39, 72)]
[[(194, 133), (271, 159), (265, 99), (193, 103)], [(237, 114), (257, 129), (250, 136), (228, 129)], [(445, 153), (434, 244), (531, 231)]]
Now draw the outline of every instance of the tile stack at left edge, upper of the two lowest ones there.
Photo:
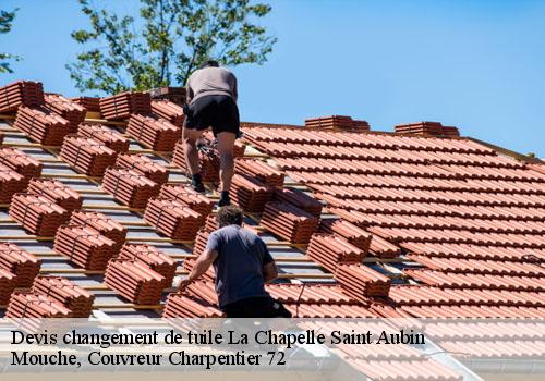
[(16, 287), (29, 287), (38, 274), (40, 266), (41, 260), (15, 244), (0, 243), (0, 269), (16, 276)]

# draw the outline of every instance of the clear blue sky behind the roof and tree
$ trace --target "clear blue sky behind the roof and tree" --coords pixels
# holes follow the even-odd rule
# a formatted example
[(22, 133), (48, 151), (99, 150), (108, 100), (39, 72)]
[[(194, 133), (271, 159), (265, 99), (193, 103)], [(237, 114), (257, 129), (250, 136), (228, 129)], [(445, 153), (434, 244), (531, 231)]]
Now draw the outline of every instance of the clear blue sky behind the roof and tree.
[[(119, 12), (138, 8), (137, 0), (101, 2)], [(545, 1), (268, 2), (263, 24), (278, 38), (272, 54), (264, 65), (233, 67), (242, 120), (303, 124), (339, 114), (377, 131), (439, 121), (545, 156)], [(24, 60), (0, 84), (34, 79), (78, 95), (64, 69), (84, 49), (70, 37), (88, 25), (77, 1), (0, 0), (0, 9), (13, 8), (19, 14), (0, 35), (0, 51)]]

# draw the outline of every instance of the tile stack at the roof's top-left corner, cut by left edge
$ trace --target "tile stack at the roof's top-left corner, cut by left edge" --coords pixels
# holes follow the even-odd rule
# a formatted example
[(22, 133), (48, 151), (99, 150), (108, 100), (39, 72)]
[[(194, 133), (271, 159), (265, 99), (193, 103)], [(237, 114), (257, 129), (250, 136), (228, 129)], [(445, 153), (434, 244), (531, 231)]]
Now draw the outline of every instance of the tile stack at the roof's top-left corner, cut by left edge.
[(0, 112), (16, 111), (20, 106), (44, 105), (44, 87), (39, 82), (17, 81), (0, 87)]

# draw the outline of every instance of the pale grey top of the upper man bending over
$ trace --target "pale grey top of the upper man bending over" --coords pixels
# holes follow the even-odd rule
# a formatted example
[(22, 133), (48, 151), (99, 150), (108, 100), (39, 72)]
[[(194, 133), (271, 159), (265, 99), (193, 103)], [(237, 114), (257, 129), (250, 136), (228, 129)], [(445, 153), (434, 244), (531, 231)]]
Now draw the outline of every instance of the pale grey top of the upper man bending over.
[(187, 79), (187, 103), (209, 95), (226, 95), (237, 101), (237, 77), (225, 67), (204, 67)]

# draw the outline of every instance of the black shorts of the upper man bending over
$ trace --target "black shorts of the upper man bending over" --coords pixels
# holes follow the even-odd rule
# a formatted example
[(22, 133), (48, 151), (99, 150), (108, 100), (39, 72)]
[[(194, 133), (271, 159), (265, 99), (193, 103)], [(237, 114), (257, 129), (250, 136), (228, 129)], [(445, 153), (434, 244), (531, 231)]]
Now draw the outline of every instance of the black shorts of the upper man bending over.
[(198, 98), (185, 111), (185, 128), (202, 131), (211, 126), (214, 136), (222, 132), (239, 136), (239, 108), (229, 96), (210, 95)]

